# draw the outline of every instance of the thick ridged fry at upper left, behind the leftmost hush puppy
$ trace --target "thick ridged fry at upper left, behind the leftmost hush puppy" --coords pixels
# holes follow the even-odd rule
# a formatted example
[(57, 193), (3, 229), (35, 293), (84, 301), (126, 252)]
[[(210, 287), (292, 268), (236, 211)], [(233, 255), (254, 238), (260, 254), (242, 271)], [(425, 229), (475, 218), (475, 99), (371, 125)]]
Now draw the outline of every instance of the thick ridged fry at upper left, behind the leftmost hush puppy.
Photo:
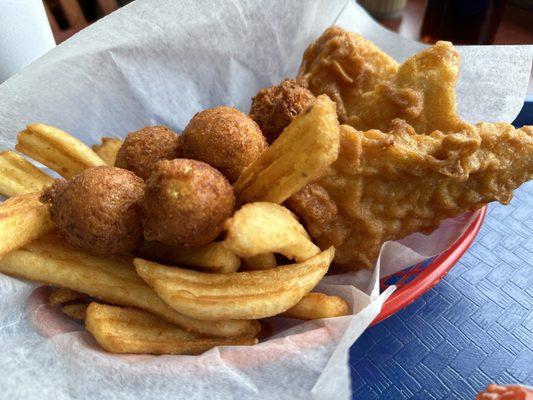
[(67, 179), (87, 168), (106, 165), (79, 139), (44, 124), (28, 125), (19, 133), (15, 148)]

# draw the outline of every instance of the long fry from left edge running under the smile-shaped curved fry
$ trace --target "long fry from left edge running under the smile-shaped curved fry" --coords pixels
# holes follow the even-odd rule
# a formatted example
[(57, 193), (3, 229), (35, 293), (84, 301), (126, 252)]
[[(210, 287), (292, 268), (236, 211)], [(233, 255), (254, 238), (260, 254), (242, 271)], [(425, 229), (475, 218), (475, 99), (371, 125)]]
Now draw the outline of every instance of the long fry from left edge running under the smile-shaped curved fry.
[(47, 235), (0, 259), (0, 272), (66, 287), (106, 303), (150, 311), (189, 331), (210, 336), (255, 337), (257, 321), (203, 321), (167, 306), (135, 273), (131, 257), (96, 256)]

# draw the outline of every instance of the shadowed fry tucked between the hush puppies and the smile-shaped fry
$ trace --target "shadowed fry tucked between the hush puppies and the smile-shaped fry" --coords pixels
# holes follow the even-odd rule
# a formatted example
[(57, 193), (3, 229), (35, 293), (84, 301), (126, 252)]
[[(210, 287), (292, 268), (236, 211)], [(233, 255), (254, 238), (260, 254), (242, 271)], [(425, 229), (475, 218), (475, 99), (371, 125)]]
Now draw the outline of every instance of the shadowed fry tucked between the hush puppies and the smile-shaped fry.
[(195, 249), (167, 246), (159, 242), (144, 242), (139, 254), (172, 265), (197, 267), (205, 272), (235, 272), (241, 265), (239, 257), (228, 250), (223, 242), (213, 242)]

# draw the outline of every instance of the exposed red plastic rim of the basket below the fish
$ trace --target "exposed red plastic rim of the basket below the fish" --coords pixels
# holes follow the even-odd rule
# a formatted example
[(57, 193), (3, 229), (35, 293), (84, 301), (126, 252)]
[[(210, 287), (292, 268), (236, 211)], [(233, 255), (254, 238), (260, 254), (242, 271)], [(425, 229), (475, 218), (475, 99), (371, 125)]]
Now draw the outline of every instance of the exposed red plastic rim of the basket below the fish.
[(444, 253), (423, 263), (381, 278), (381, 290), (386, 289), (390, 285), (396, 285), (398, 289), (385, 301), (381, 313), (372, 322), (372, 325), (383, 321), (402, 308), (407, 307), (439, 283), (472, 245), (485, 219), (486, 213), (487, 207), (485, 206), (481, 208), (480, 213), (470, 223), (470, 226), (462, 236)]

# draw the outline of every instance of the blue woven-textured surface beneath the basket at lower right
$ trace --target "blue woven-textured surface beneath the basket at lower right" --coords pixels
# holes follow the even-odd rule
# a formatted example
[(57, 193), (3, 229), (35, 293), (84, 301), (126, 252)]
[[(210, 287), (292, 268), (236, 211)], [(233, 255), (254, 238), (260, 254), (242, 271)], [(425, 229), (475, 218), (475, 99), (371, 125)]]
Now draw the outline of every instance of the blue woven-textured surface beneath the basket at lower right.
[[(526, 102), (516, 126), (533, 124)], [(350, 349), (354, 399), (475, 399), (533, 385), (533, 182), (491, 204), (476, 241), (409, 307)]]

